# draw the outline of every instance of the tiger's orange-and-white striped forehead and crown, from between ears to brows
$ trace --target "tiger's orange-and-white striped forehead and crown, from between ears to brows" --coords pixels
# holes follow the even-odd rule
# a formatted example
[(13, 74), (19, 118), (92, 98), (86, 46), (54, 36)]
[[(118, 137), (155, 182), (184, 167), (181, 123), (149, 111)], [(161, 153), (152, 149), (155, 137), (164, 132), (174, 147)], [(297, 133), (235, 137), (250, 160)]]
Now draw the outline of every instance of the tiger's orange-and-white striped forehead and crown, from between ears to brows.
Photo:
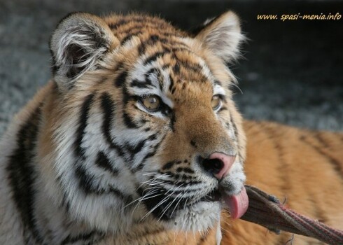
[[(188, 93), (188, 97), (197, 97), (197, 94), (211, 97), (214, 90), (225, 93), (216, 83), (209, 64), (194, 48), (196, 41), (188, 34), (150, 16), (116, 15), (105, 20), (122, 47), (136, 50), (129, 61), (132, 65), (130, 90), (135, 94), (154, 93), (164, 97), (161, 94), (164, 93), (169, 97), (183, 97)], [(199, 91), (190, 94), (190, 87), (194, 87), (188, 86), (190, 83), (197, 83)]]

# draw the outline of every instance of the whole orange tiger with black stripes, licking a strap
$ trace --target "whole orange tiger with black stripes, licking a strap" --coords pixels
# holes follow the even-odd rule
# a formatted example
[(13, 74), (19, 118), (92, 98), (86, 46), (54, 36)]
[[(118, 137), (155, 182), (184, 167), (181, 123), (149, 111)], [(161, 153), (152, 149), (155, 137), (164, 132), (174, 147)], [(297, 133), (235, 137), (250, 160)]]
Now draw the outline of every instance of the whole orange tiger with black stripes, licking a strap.
[[(231, 10), (193, 31), (71, 13), (52, 78), (0, 143), (0, 244), (286, 244), (239, 219), (245, 184), (343, 228), (343, 134), (244, 120)], [(296, 244), (320, 244), (296, 236)]]

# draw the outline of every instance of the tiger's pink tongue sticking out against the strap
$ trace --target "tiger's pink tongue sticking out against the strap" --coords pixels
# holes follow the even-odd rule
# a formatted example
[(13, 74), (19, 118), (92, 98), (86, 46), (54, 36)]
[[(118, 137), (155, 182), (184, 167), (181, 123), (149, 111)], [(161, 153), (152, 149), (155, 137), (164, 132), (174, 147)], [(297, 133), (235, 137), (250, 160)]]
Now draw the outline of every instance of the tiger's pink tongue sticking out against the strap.
[(231, 218), (241, 218), (248, 209), (248, 195), (246, 189), (243, 188), (238, 195), (229, 196), (225, 192), (222, 193), (225, 204), (228, 205)]

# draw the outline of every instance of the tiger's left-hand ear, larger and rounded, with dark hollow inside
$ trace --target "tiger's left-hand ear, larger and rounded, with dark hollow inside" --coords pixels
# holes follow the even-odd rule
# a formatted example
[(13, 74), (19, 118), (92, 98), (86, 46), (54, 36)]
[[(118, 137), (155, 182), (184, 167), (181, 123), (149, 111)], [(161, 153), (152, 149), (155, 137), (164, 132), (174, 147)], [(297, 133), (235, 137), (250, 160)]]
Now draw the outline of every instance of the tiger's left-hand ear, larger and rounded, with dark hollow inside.
[(106, 22), (96, 15), (67, 15), (50, 39), (52, 73), (57, 85), (72, 87), (83, 73), (96, 69), (99, 59), (118, 44)]

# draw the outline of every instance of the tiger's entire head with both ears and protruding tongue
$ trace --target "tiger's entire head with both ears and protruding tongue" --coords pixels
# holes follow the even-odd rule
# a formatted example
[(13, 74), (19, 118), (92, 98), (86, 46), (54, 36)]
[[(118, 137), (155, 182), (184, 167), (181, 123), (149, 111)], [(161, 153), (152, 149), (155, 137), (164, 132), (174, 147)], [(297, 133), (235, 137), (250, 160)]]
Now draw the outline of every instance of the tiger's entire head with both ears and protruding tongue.
[(42, 153), (52, 199), (113, 232), (207, 230), (223, 200), (241, 216), (245, 136), (226, 64), (242, 39), (232, 12), (192, 34), (146, 15), (64, 18), (50, 41), (52, 147)]

